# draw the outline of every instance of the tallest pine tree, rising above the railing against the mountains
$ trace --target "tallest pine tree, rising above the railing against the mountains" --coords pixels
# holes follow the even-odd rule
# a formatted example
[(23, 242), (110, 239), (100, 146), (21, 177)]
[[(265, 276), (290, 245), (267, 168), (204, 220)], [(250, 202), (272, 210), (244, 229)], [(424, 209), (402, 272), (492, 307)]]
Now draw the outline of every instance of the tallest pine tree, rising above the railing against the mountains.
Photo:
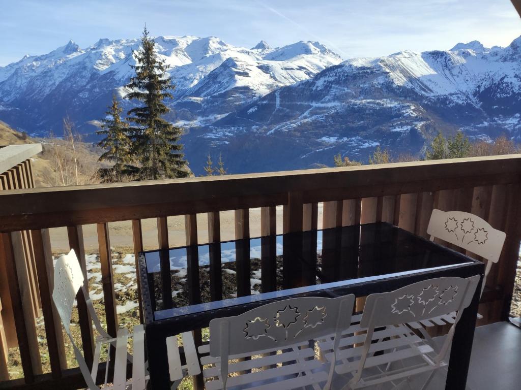
[(170, 111), (164, 100), (172, 98), (174, 87), (165, 74), (168, 67), (157, 57), (154, 45), (145, 25), (141, 48), (134, 52), (136, 64), (131, 66), (136, 75), (126, 86), (130, 89), (126, 98), (143, 103), (128, 112), (129, 122), (135, 124), (129, 128), (131, 152), (139, 162), (132, 172), (138, 180), (187, 177), (190, 172), (179, 142), (182, 129), (163, 118)]

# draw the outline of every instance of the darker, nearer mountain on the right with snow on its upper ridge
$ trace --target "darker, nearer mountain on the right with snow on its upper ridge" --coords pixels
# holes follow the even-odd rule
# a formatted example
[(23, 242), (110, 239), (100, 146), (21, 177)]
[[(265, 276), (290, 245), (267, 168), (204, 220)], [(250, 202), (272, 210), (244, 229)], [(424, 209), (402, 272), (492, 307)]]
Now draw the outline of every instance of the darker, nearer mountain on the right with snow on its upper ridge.
[(520, 114), (521, 37), (505, 48), (474, 41), (346, 60), (194, 129), (187, 153), (210, 144), (233, 155), (234, 172), (331, 165), (335, 153), (366, 161), (379, 145), (423, 153), (438, 131), (520, 141)]

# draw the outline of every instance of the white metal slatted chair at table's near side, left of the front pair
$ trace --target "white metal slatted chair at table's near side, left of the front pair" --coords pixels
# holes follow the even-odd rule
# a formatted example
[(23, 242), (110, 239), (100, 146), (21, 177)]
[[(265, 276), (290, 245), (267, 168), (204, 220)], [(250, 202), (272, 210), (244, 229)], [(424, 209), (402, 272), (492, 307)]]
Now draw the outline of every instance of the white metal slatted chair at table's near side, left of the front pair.
[[(340, 333), (351, 322), (354, 300), (354, 295), (290, 298), (239, 316), (213, 319), (209, 345), (199, 347), (201, 355), (208, 354), (200, 359), (206, 389), (329, 389), (334, 365), (315, 359), (315, 341), (334, 334), (333, 355), (336, 353)], [(191, 333), (182, 336), (184, 345), (188, 341), (184, 353), (190, 368), (197, 363), (197, 355), (190, 347)], [(175, 339), (167, 339), (172, 381), (183, 370)], [(229, 378), (237, 372), (241, 374)]]

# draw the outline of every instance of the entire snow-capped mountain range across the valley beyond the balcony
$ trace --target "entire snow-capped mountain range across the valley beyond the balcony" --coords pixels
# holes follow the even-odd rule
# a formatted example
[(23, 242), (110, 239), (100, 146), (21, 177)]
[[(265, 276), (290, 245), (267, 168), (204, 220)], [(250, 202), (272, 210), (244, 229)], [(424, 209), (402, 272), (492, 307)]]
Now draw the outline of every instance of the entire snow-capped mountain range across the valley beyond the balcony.
[[(196, 174), (208, 153), (241, 173), (331, 165), (336, 153), (365, 161), (377, 146), (421, 154), (438, 131), (521, 139), (521, 37), (504, 48), (473, 41), (345, 61), (318, 42), (155, 41), (176, 85), (167, 119), (184, 127)], [(0, 67), (0, 120), (31, 135), (60, 134), (68, 115), (93, 139), (111, 95), (127, 93), (139, 45), (70, 41)]]

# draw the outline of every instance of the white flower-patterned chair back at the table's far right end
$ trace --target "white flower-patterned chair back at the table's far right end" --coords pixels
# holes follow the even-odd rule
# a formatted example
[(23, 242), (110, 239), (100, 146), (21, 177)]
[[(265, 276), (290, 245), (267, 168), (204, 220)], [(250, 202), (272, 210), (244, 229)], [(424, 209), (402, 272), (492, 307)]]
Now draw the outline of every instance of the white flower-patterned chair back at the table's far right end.
[(481, 294), (492, 264), (499, 262), (506, 234), (477, 215), (463, 211), (432, 210), (427, 227), (430, 240), (439, 238), (487, 259)]

